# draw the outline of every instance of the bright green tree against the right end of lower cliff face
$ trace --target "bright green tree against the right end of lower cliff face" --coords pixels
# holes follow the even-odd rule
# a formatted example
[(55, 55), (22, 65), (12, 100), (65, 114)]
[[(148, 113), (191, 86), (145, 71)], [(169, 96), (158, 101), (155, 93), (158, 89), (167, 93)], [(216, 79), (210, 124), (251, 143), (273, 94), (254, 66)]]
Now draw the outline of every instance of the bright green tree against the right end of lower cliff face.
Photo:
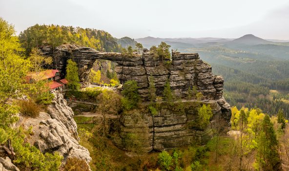
[(198, 109), (197, 124), (200, 128), (206, 128), (210, 122), (210, 118), (213, 116), (210, 105), (203, 105)]

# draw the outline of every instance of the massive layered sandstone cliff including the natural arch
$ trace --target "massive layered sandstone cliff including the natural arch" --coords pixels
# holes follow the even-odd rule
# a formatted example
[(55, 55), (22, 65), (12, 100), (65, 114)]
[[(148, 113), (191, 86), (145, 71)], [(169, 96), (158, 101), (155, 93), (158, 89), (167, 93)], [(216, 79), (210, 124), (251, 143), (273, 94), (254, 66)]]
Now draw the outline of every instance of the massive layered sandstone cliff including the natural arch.
[[(56, 49), (42, 48), (45, 55), (53, 57), (53, 67), (65, 70), (67, 59), (72, 59), (79, 66), (81, 80), (85, 82), (89, 69), (95, 60), (104, 59), (117, 63), (116, 71), (121, 83), (135, 80), (140, 87), (138, 92), (143, 100), (148, 99), (149, 79), (154, 79), (157, 96), (163, 96), (165, 82), (168, 80), (176, 97), (185, 99), (188, 88), (195, 86), (203, 97), (201, 103), (210, 104), (215, 116), (222, 116), (228, 123), (231, 116), (230, 106), (223, 97), (224, 79), (212, 74), (211, 66), (204, 63), (197, 53), (172, 53), (172, 59), (155, 58), (150, 51), (133, 56), (120, 53), (100, 53), (88, 47), (76, 45), (62, 45)], [(151, 76), (151, 77), (150, 77)], [(122, 131), (115, 138), (115, 143), (124, 149), (131, 144), (129, 136), (135, 131), (143, 139), (146, 151), (163, 150), (180, 147), (198, 141), (206, 142), (211, 130), (196, 128), (191, 123), (196, 121), (198, 113), (194, 100), (182, 102), (184, 112), (174, 107), (165, 107), (161, 104), (155, 116), (150, 113), (134, 111), (123, 115)], [(212, 120), (214, 120), (214, 117)], [(130, 143), (129, 143), (130, 142)]]

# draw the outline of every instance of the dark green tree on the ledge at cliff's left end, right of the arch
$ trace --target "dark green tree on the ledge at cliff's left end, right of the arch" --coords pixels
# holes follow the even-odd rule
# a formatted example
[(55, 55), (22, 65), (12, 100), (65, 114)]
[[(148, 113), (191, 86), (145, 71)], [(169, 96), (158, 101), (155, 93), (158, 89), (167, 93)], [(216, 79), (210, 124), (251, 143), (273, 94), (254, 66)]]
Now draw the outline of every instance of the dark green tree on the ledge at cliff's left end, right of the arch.
[(140, 95), (138, 94), (138, 85), (136, 81), (127, 81), (124, 83), (124, 89), (122, 95), (122, 104), (126, 110), (133, 109), (137, 107), (140, 101)]

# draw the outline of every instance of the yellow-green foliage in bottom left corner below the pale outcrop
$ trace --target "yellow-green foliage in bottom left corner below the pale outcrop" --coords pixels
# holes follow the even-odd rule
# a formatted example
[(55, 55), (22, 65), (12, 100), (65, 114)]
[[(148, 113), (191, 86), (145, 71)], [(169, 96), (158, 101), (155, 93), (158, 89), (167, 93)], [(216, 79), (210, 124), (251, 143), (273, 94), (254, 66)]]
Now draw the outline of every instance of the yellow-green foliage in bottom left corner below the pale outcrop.
[[(4, 144), (8, 139), (16, 153), (13, 161), (19, 168), (30, 168), (38, 171), (57, 171), (61, 165), (62, 156), (58, 153), (42, 154), (35, 146), (24, 142), (26, 133), (23, 129), (0, 128), (0, 144)], [(25, 169), (26, 170), (26, 169)]]

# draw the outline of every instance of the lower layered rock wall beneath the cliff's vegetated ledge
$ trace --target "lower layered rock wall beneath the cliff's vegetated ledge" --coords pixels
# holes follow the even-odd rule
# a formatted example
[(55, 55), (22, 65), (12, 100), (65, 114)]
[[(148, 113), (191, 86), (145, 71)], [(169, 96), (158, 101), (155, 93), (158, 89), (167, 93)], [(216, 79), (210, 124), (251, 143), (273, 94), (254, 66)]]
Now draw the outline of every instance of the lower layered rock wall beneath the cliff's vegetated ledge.
[[(222, 110), (216, 101), (186, 101), (168, 106), (159, 104), (158, 113), (133, 110), (121, 117), (121, 131), (115, 136), (114, 143), (121, 149), (137, 148), (145, 152), (183, 147), (190, 144), (205, 144), (212, 137), (210, 125), (200, 128), (197, 123), (197, 106), (210, 105), (212, 121)], [(182, 106), (182, 108), (179, 108)], [(139, 147), (138, 147), (139, 146)]]

